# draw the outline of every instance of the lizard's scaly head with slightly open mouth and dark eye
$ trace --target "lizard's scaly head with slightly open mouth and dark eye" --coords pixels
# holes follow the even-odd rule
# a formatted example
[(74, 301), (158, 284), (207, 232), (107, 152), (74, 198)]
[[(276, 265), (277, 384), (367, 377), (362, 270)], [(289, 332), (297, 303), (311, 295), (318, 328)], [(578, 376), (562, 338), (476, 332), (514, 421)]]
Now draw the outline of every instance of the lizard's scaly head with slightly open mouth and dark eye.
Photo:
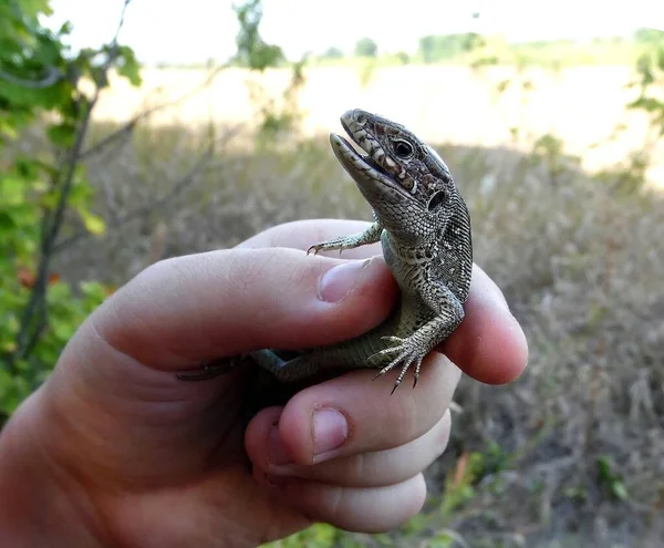
[(365, 154), (336, 134), (332, 149), (376, 220), (406, 240), (444, 230), (460, 197), (438, 154), (404, 126), (360, 108), (341, 116), (341, 125)]

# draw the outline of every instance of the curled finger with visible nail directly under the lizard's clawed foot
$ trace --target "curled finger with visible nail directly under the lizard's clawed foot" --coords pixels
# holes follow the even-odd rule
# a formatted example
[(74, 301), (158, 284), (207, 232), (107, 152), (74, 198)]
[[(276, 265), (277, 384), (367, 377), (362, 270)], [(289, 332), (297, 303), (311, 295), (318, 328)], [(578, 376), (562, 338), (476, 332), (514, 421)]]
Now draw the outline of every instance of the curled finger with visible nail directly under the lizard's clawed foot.
[(393, 373), (372, 382), (375, 371), (354, 371), (297, 393), (279, 418), (281, 453), (308, 466), (424, 435), (447, 411), (460, 371), (432, 353), (417, 387), (402, 385), (391, 395)]

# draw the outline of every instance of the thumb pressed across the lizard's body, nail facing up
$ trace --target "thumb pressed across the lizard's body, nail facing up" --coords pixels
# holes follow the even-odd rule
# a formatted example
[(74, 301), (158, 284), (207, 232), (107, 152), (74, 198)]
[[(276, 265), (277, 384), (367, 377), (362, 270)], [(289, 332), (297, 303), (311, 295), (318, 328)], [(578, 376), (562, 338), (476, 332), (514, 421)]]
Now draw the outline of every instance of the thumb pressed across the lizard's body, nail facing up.
[(91, 318), (97, 338), (158, 369), (330, 344), (380, 323), (397, 296), (381, 258), (232, 249), (154, 265)]

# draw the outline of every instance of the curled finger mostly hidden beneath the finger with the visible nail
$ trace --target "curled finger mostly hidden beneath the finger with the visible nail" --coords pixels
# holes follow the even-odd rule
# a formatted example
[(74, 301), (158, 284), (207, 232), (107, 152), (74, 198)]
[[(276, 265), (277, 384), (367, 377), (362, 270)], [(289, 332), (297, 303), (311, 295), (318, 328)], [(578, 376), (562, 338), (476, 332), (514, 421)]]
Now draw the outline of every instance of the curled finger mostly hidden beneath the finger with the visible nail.
[(449, 411), (433, 428), (413, 442), (385, 451), (352, 454), (314, 466), (288, 464), (278, 422), (282, 410), (261, 412), (247, 430), (247, 454), (266, 474), (298, 477), (344, 487), (380, 487), (414, 477), (439, 457), (449, 441)]

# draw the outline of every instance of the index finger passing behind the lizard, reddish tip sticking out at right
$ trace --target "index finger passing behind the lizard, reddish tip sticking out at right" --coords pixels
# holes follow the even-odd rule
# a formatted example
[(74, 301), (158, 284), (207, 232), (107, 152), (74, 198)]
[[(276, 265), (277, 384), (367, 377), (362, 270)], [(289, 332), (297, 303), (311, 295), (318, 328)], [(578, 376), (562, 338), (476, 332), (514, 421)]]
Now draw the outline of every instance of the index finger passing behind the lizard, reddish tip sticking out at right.
[[(308, 249), (313, 242), (359, 232), (367, 226), (364, 221), (338, 219), (288, 223), (250, 238), (242, 246)], [(362, 258), (376, 254), (382, 254), (380, 244), (344, 251), (344, 257)], [(440, 350), (478, 381), (502, 384), (519, 376), (528, 361), (526, 335), (510, 313), (500, 289), (477, 265), (464, 308), (466, 318)]]

